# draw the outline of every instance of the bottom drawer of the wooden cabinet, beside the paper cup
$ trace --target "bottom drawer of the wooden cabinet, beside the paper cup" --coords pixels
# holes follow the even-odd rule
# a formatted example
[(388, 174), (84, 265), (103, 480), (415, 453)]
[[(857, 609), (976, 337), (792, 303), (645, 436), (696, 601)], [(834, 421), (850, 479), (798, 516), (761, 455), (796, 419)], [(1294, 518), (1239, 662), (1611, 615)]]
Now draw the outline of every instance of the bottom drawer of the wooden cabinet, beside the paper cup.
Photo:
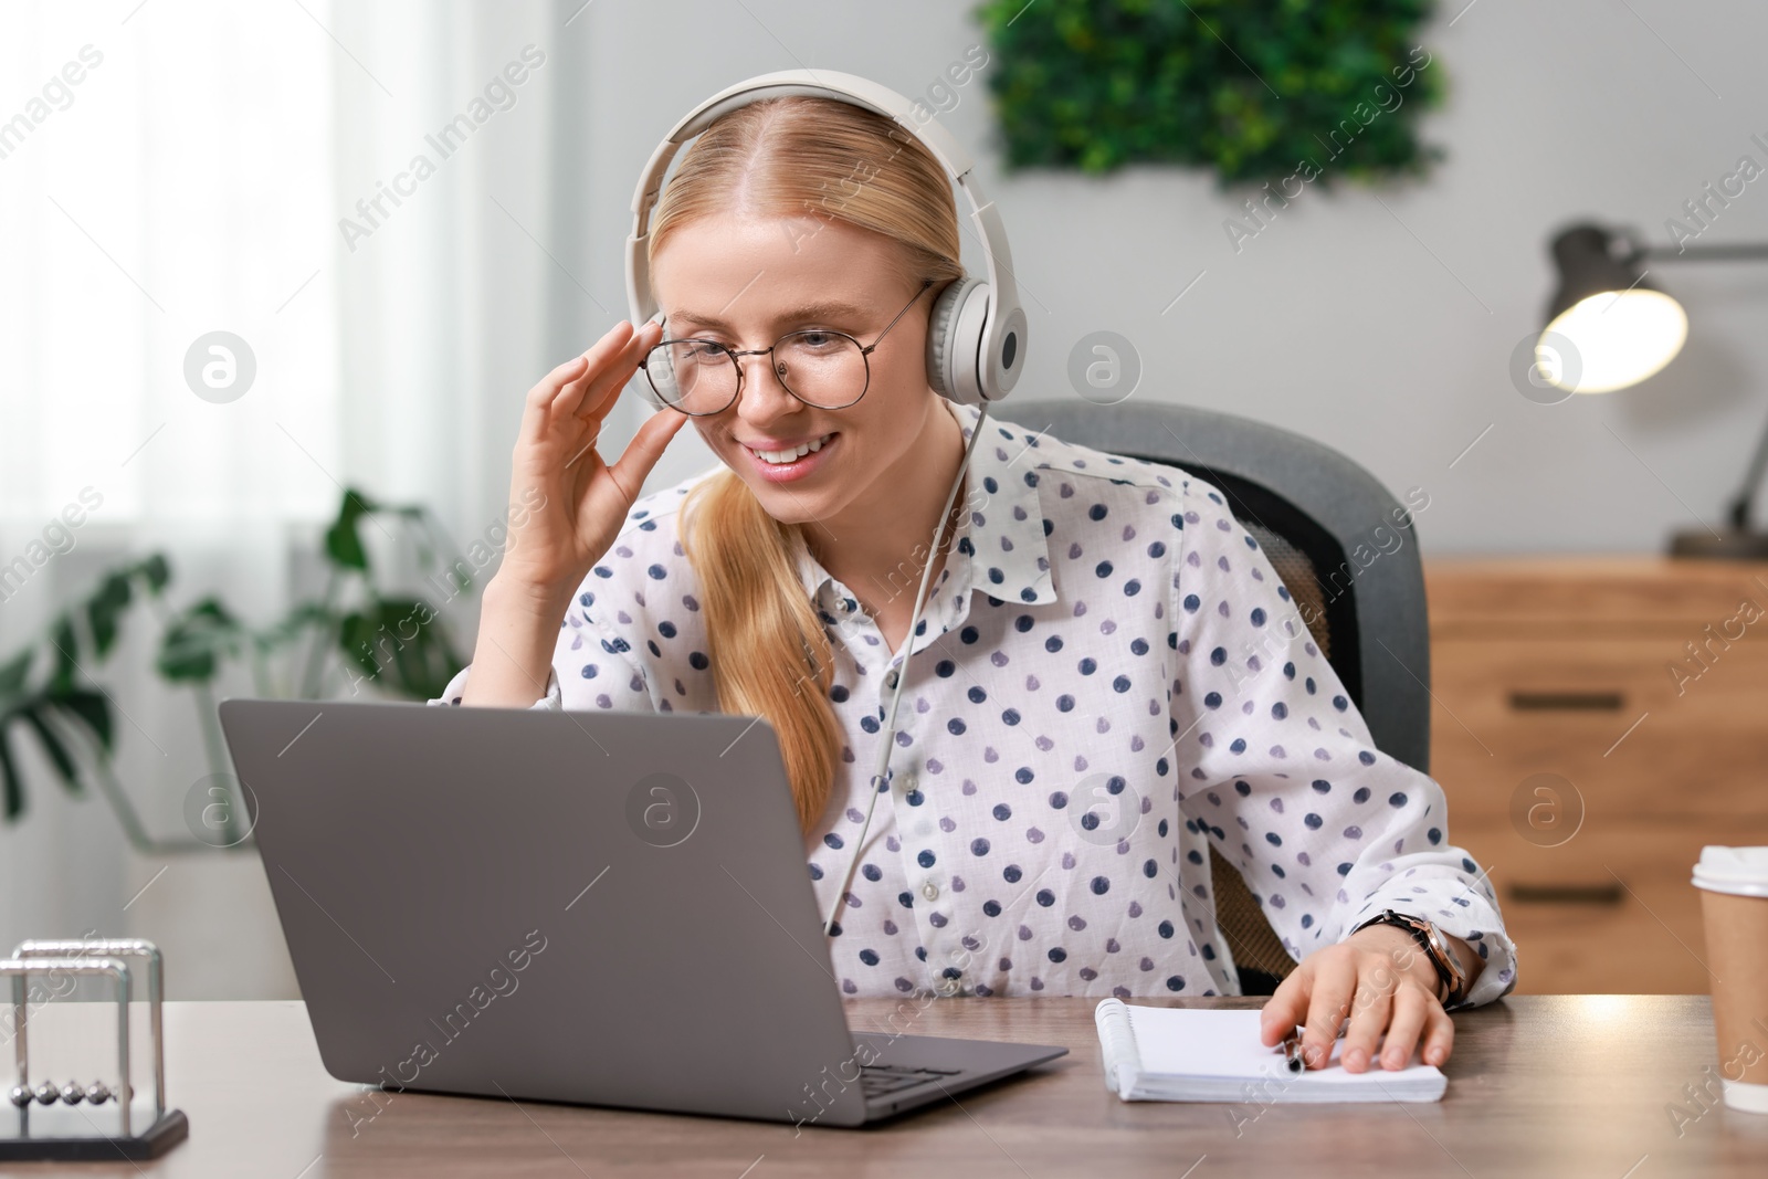
[(1513, 827), (1455, 822), (1450, 838), (1490, 873), (1517, 942), (1517, 993), (1706, 993), (1704, 843), (1768, 843), (1768, 824), (1586, 824), (1559, 847)]

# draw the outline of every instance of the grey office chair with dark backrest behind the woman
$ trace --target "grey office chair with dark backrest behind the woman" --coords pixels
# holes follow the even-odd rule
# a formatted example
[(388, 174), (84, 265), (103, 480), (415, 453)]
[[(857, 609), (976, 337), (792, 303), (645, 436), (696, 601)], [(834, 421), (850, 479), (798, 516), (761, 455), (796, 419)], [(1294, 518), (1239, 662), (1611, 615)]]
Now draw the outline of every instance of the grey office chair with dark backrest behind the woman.
[[(1188, 405), (1063, 399), (1008, 408), (1025, 430), (1215, 484), (1308, 619), (1376, 748), (1430, 772), (1430, 628), (1418, 539), (1409, 514), (1395, 523), (1400, 502), (1374, 475), (1289, 430)], [(1243, 993), (1269, 995), (1296, 960), (1213, 845), (1209, 879)]]

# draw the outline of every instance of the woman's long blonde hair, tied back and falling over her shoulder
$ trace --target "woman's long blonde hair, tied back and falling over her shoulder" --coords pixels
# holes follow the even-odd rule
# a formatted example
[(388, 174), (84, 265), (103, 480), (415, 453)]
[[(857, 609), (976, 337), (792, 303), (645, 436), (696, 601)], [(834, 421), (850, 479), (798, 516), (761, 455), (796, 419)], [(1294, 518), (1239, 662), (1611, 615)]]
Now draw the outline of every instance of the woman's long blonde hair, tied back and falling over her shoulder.
[[(895, 120), (836, 99), (789, 95), (741, 106), (682, 154), (658, 202), (647, 251), (732, 202), (757, 216), (815, 216), (896, 242), (905, 286), (964, 276), (958, 216), (944, 166)], [(780, 753), (801, 829), (829, 804), (842, 728), (829, 704), (829, 635), (804, 594), (801, 525), (774, 520), (728, 467), (688, 493), (682, 551), (702, 583), (713, 681), (723, 712), (762, 716)]]

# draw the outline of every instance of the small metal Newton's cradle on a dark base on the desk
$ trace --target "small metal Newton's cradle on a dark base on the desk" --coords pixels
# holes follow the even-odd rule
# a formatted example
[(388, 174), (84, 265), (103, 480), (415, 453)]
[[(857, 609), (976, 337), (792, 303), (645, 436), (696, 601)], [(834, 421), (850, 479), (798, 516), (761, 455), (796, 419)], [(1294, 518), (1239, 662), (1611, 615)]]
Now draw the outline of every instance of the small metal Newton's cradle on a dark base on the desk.
[[(129, 1078), (129, 999), (133, 974), (127, 958), (147, 963), (147, 1004), (154, 1045), (152, 1117), (136, 1110)], [(34, 974), (97, 974), (117, 990), (117, 1078), (113, 1084), (39, 1078), (32, 1084), (27, 1039), (27, 981)], [(141, 939), (30, 940), (0, 960), (0, 977), (12, 979), (12, 1055), (18, 1078), (0, 1105), (0, 1161), (23, 1160), (145, 1160), (157, 1158), (189, 1135), (180, 1110), (166, 1108), (166, 1050), (161, 1025), (163, 969), (159, 947)], [(81, 1108), (85, 1107), (85, 1108)], [(147, 1122), (140, 1126), (140, 1122)]]

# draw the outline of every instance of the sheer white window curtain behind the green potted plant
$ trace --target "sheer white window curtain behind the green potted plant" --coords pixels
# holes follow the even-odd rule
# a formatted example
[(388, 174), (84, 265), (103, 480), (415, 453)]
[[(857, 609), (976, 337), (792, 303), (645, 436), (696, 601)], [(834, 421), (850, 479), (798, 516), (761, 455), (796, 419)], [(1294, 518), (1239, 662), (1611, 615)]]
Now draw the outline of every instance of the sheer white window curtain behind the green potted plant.
[[(166, 610), (279, 619), (318, 589), (345, 486), (424, 504), (461, 551), (484, 537), (522, 394), (562, 359), (562, 21), (546, 0), (0, 9), (0, 661), (150, 551)], [(368, 532), (415, 585), (398, 532)], [(470, 654), (476, 605), (449, 617)], [(152, 608), (122, 635), (85, 668), (117, 778), (152, 836), (189, 838), (200, 704), (156, 675)], [(235, 670), (219, 695), (260, 686)], [(171, 997), (293, 993), (255, 856), (138, 854), (23, 728), (12, 746), (0, 951), (150, 937)]]

